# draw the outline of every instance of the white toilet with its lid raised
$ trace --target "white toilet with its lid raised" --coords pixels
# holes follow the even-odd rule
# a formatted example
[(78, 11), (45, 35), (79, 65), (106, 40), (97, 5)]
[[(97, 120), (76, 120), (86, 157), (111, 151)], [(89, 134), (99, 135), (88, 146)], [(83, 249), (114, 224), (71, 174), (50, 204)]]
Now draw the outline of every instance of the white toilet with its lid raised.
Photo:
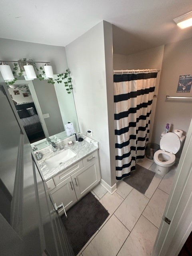
[(156, 163), (156, 173), (165, 175), (170, 166), (175, 163), (175, 154), (180, 150), (185, 136), (179, 138), (173, 132), (163, 132), (161, 135), (160, 150), (155, 152), (153, 160)]

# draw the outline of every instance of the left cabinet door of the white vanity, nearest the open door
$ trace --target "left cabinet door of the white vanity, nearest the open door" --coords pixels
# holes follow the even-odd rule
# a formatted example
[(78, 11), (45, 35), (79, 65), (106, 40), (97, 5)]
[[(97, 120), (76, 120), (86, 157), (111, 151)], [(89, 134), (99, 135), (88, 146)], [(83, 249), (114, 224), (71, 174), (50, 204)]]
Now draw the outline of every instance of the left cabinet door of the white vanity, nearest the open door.
[[(51, 195), (57, 206), (63, 203), (65, 210), (68, 210), (77, 201), (71, 177), (51, 190)], [(58, 212), (60, 215), (64, 214), (63, 208), (60, 208)]]

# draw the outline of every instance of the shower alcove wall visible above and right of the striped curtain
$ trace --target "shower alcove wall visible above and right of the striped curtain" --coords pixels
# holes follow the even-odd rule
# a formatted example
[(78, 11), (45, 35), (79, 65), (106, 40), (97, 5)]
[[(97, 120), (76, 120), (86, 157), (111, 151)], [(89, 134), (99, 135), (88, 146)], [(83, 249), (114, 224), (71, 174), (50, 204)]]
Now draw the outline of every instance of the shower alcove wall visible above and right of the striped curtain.
[[(156, 68), (161, 70), (163, 54), (164, 54), (164, 45), (158, 46), (156, 48), (144, 50), (142, 52), (130, 54), (130, 55), (114, 54), (114, 67), (115, 67), (114, 69), (116, 70), (135, 69), (136, 70), (136, 69)], [(158, 76), (156, 80), (156, 88), (154, 92), (154, 94), (156, 95), (158, 95), (160, 75), (161, 75), (161, 71), (158, 72)], [(153, 131), (153, 125), (154, 125), (156, 102), (157, 102), (157, 98), (154, 98), (152, 103), (152, 111), (151, 111), (149, 142), (152, 140), (152, 131)]]

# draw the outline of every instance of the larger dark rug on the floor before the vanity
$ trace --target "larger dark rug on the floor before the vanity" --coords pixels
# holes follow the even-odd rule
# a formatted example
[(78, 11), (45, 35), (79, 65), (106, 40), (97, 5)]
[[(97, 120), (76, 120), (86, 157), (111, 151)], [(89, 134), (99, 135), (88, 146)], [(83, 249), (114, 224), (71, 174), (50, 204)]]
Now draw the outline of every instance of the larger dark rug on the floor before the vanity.
[(108, 216), (108, 211), (91, 192), (67, 211), (67, 218), (62, 215), (61, 219), (75, 255), (80, 252)]

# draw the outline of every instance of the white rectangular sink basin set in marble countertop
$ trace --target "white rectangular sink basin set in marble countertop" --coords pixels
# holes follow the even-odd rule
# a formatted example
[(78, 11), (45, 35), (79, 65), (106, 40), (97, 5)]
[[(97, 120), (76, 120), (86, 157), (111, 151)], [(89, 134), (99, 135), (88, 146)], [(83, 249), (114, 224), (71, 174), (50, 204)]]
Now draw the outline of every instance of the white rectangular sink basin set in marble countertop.
[(67, 160), (74, 156), (76, 156), (76, 154), (68, 148), (63, 152), (56, 154), (55, 156), (45, 160), (44, 162), (46, 166), (51, 170), (52, 168), (66, 162)]

